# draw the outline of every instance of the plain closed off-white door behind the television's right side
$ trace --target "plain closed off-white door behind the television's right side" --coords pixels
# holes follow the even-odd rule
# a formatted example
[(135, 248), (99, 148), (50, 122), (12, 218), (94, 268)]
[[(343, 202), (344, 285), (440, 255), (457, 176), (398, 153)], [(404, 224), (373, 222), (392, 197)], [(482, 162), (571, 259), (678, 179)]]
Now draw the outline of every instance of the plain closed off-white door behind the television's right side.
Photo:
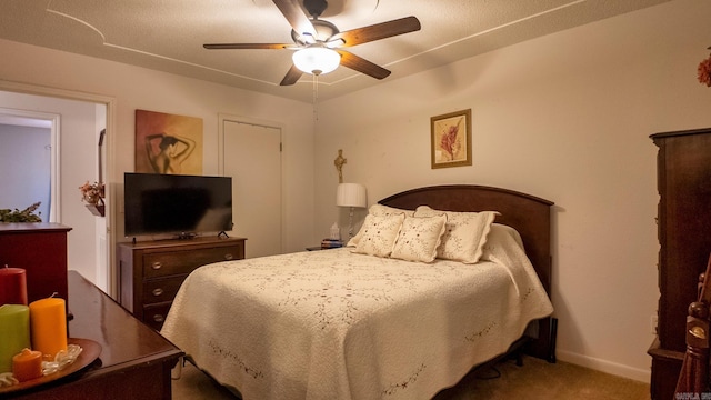
[(281, 253), (281, 129), (224, 119), (222, 173), (232, 177), (230, 236), (247, 238), (246, 257)]

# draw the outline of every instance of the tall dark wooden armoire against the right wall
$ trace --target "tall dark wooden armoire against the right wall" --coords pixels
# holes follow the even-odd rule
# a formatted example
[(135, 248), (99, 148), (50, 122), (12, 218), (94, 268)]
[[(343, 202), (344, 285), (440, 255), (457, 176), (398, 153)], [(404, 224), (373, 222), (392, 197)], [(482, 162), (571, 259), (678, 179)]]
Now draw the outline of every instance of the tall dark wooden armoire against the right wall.
[(685, 351), (689, 304), (711, 253), (711, 128), (655, 133), (659, 309), (651, 398), (669, 400)]

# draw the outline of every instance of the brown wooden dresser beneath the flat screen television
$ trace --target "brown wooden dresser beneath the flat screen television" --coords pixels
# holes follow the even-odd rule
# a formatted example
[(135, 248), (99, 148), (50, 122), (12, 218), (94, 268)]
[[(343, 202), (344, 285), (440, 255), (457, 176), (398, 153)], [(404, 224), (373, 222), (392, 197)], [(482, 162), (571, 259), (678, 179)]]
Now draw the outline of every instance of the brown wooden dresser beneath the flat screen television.
[(119, 244), (120, 301), (156, 330), (182, 281), (198, 267), (244, 258), (243, 238), (196, 238)]

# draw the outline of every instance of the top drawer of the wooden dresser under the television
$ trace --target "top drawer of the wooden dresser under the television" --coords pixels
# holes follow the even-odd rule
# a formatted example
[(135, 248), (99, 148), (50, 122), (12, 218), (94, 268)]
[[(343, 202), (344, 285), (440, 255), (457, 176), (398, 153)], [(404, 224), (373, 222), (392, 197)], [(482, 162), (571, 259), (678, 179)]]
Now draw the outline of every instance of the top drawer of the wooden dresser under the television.
[(240, 253), (240, 246), (147, 253), (143, 256), (143, 278), (187, 274), (211, 262), (237, 260)]

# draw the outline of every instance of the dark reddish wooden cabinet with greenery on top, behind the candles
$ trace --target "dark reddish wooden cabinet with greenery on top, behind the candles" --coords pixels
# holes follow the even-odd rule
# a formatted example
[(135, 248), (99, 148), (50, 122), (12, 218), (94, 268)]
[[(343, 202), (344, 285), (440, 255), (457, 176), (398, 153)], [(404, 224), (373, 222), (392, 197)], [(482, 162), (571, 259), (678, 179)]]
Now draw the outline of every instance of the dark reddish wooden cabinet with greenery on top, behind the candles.
[(0, 223), (0, 267), (22, 268), (28, 301), (57, 297), (69, 300), (67, 289), (67, 232), (52, 222)]

